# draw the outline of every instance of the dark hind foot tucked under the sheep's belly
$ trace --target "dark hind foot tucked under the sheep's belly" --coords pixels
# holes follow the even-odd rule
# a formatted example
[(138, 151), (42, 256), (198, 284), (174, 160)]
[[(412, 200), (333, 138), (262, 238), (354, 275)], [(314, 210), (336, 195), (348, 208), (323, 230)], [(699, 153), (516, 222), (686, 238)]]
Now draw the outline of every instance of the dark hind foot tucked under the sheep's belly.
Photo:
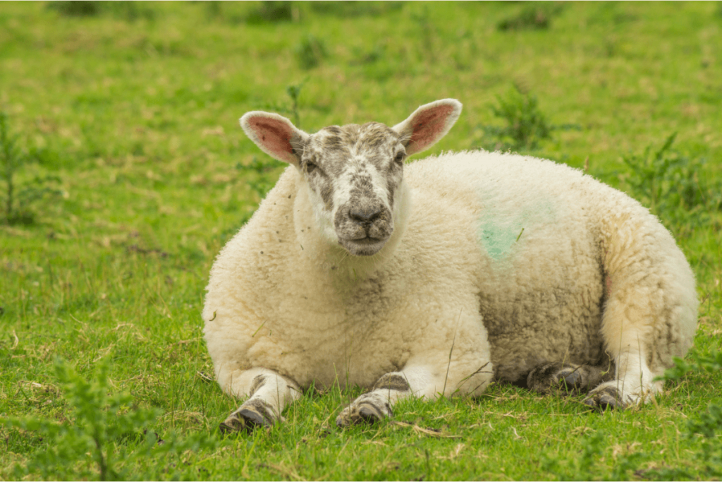
[(542, 395), (586, 393), (604, 382), (607, 374), (604, 366), (544, 363), (529, 373), (526, 386)]

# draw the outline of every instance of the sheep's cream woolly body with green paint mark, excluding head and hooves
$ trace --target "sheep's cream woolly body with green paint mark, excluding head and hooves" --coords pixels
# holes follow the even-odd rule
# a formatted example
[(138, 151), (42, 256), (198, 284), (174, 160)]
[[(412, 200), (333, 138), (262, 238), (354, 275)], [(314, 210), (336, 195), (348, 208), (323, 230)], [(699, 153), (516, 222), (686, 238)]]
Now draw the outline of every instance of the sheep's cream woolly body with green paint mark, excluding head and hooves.
[(372, 387), (425, 366), (419, 379), (433, 380), (417, 395), (478, 395), (492, 374), (517, 382), (546, 361), (611, 358), (625, 363), (625, 394), (643, 395), (692, 345), (692, 270), (622, 192), (484, 151), (406, 164), (404, 185), (386, 246), (351, 257), (319, 241), (308, 186), (284, 171), (212, 268), (205, 337), (225, 391), (246, 395), (234, 380), (249, 369), (302, 388)]

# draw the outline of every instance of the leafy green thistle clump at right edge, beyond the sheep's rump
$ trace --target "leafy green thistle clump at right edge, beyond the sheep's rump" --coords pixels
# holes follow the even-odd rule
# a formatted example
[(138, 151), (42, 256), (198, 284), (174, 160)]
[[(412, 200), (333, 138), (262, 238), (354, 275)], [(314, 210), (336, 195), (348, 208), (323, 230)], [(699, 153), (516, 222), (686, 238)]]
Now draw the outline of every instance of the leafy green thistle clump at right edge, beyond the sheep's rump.
[(673, 149), (676, 137), (671, 134), (658, 150), (648, 146), (642, 154), (623, 156), (631, 172), (621, 177), (635, 199), (684, 236), (713, 222), (713, 214), (722, 211), (722, 182), (705, 176), (704, 158)]

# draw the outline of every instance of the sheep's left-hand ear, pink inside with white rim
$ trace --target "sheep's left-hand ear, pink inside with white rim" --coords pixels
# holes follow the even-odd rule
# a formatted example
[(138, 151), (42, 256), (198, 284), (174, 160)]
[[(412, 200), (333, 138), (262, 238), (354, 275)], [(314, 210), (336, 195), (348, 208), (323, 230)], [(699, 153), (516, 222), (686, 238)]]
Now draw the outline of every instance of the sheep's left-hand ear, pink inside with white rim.
[(308, 134), (277, 113), (253, 111), (240, 118), (245, 135), (271, 158), (298, 167)]

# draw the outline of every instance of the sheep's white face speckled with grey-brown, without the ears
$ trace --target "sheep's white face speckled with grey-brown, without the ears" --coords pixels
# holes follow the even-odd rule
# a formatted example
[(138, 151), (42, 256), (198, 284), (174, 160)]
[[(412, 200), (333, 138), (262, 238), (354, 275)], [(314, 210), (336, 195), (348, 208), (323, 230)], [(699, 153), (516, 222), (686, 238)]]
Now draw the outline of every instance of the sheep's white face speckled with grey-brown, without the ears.
[(377, 122), (330, 126), (301, 149), (300, 169), (317, 218), (333, 226), (349, 254), (378, 252), (393, 232), (394, 196), (404, 173), (399, 134)]

